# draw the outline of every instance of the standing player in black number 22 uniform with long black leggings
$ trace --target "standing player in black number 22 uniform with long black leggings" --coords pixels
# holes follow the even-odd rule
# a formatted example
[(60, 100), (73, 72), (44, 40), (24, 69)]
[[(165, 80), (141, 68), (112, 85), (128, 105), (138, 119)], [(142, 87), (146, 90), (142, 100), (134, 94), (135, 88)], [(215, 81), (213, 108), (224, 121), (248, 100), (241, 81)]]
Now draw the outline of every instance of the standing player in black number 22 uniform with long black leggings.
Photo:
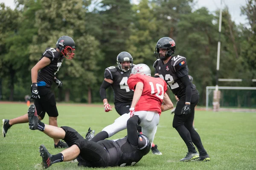
[[(175, 41), (169, 37), (158, 40), (155, 47), (154, 62), (155, 77), (164, 79), (179, 101), (177, 102), (172, 126), (180, 134), (180, 137), (188, 147), (188, 153), (180, 161), (201, 160), (209, 161), (209, 155), (203, 147), (199, 134), (193, 128), (195, 106), (199, 100), (199, 94), (195, 86), (189, 81), (189, 68), (186, 58), (172, 56), (176, 51)], [(198, 148), (199, 154), (195, 147)]]

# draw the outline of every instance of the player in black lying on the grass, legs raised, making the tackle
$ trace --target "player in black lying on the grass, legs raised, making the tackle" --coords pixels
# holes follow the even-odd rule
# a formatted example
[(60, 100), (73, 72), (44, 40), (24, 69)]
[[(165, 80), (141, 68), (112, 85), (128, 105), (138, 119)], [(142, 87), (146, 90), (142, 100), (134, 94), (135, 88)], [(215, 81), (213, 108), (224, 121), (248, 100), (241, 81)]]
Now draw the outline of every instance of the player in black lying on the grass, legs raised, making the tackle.
[[(44, 168), (54, 163), (77, 159), (78, 165), (85, 167), (114, 167), (134, 165), (151, 148), (151, 144), (145, 135), (137, 133), (136, 126), (140, 124), (139, 116), (133, 116), (127, 121), (127, 136), (116, 140), (101, 140), (97, 142), (84, 139), (71, 127), (55, 127), (45, 125), (38, 120), (35, 105), (31, 105), (28, 111), (29, 124), (43, 131), (51, 138), (63, 139), (69, 148), (61, 153), (51, 155), (44, 145), (39, 148), (43, 159)], [(34, 129), (33, 129), (34, 130)]]

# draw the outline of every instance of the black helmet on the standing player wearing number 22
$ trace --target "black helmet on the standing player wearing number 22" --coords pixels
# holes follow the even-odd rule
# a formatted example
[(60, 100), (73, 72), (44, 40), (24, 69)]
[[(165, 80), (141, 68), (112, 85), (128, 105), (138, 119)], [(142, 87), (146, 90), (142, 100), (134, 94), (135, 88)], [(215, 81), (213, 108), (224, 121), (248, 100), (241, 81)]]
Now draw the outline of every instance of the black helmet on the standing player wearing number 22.
[[(159, 48), (167, 49), (164, 55), (160, 53)], [(168, 57), (171, 57), (172, 54), (175, 53), (175, 51), (176, 51), (175, 41), (172, 40), (172, 38), (163, 37), (157, 41), (154, 54), (157, 59), (166, 60)]]

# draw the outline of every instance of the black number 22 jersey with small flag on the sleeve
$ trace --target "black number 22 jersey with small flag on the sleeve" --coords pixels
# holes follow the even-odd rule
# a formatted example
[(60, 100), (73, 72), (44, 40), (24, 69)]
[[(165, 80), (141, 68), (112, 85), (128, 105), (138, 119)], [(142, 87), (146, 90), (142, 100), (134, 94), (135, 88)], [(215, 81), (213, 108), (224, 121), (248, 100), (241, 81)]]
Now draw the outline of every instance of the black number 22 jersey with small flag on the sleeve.
[[(180, 77), (189, 74), (185, 57), (179, 55), (174, 56), (166, 64), (163, 64), (162, 60), (157, 59), (153, 66), (155, 68), (155, 74), (158, 73), (159, 77), (166, 81), (173, 94), (178, 98), (185, 96), (186, 86), (180, 80)], [(192, 87), (192, 94), (196, 94), (198, 91), (194, 85)]]

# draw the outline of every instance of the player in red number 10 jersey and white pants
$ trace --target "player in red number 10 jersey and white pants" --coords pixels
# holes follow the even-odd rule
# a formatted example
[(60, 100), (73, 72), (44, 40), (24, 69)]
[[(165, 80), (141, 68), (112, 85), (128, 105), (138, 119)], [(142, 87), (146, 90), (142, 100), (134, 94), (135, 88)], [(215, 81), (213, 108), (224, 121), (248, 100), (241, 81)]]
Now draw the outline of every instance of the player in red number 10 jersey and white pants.
[[(135, 65), (131, 70), (128, 86), (134, 90), (130, 116), (138, 115), (141, 119), (142, 133), (153, 142), (160, 114), (173, 108), (169, 99), (166, 82), (160, 78), (151, 77), (151, 70), (145, 64)], [(163, 105), (162, 105), (163, 103)]]

